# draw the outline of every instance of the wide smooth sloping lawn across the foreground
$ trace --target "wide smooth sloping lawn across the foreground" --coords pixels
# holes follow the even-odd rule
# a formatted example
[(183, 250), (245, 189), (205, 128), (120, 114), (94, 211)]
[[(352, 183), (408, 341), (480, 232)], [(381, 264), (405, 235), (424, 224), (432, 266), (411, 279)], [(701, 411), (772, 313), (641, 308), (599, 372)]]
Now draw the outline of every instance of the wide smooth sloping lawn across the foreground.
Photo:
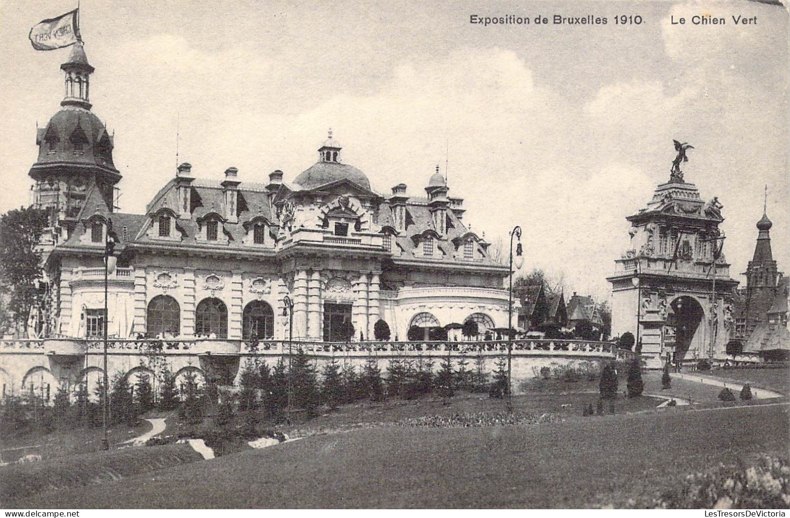
[(788, 406), (309, 437), (40, 494), (33, 508), (585, 508), (645, 503), (687, 473), (788, 455)]

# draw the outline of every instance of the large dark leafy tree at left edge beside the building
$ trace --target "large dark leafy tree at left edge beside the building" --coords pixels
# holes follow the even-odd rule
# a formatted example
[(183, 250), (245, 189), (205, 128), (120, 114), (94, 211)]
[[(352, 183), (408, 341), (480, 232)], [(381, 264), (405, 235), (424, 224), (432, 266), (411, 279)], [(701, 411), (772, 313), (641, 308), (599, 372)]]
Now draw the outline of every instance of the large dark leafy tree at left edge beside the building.
[(41, 309), (44, 292), (37, 287), (43, 276), (38, 250), (47, 212), (38, 208), (13, 209), (0, 216), (0, 287), (8, 295), (13, 323), (26, 336), (34, 309)]

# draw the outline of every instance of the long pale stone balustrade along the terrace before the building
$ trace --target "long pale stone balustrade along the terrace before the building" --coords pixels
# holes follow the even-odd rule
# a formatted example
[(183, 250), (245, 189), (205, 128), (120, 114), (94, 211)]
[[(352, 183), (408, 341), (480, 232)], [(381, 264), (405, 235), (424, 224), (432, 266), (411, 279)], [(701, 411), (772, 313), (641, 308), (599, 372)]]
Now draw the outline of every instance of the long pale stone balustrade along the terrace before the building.
[[(634, 353), (617, 349), (614, 343), (589, 340), (490, 340), (437, 342), (318, 342), (260, 340), (250, 343), (224, 339), (107, 340), (107, 351), (130, 355), (282, 355), (299, 348), (308, 355), (502, 355), (512, 346), (513, 355), (588, 356), (632, 358)], [(54, 354), (100, 354), (101, 339), (2, 340), (0, 355), (47, 351)]]

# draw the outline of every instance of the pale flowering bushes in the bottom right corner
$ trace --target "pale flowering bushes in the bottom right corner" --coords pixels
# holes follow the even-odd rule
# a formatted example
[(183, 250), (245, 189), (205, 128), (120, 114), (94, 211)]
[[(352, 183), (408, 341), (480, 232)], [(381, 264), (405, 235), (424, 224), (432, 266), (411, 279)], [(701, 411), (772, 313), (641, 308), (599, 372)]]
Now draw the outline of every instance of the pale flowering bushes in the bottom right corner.
[(666, 509), (787, 509), (790, 462), (762, 456), (752, 467), (719, 467), (689, 475), (656, 502)]

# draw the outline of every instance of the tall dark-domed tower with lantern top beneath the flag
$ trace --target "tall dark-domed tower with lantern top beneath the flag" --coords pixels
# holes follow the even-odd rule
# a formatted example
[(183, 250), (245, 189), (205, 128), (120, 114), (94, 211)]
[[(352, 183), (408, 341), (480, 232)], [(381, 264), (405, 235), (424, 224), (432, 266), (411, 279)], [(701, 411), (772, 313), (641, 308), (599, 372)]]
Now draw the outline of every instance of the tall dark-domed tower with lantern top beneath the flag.
[(50, 213), (55, 239), (63, 227), (77, 223), (88, 203), (98, 206), (91, 211), (112, 212), (114, 186), (121, 179), (112, 162), (113, 138), (91, 111), (94, 68), (81, 42), (73, 45), (60, 68), (66, 74), (66, 93), (60, 111), (38, 130), (39, 156), (28, 173), (36, 181), (36, 207)]

